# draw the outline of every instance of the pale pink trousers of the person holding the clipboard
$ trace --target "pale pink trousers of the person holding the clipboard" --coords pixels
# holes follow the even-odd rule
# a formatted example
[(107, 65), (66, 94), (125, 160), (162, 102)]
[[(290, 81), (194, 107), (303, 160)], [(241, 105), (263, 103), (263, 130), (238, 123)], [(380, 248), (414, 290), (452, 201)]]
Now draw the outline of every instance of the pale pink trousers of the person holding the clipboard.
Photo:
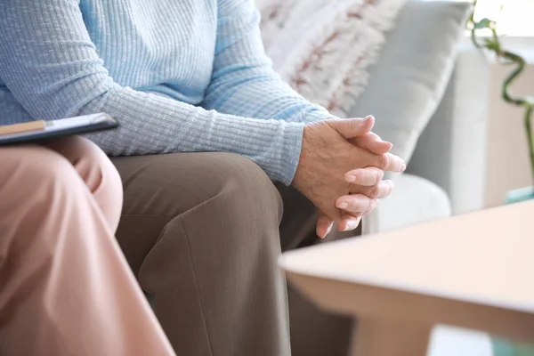
[(174, 355), (114, 238), (121, 206), (85, 139), (0, 148), (0, 354)]

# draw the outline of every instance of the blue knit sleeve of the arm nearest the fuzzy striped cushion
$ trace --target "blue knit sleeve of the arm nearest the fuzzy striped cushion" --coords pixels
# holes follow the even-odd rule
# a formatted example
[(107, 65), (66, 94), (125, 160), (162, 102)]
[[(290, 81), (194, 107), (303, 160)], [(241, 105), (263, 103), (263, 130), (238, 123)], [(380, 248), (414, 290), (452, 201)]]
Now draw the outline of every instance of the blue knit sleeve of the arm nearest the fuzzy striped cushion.
[(287, 122), (332, 117), (306, 101), (274, 72), (263, 50), (253, 0), (218, 0), (214, 70), (203, 107), (227, 114)]

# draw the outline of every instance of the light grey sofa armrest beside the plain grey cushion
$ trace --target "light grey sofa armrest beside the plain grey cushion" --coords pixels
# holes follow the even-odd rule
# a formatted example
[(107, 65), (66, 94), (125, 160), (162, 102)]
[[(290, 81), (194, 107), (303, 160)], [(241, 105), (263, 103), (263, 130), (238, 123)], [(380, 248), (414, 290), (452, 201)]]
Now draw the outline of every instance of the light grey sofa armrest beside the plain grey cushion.
[(408, 171), (445, 190), (452, 213), (484, 204), (490, 62), (462, 44), (449, 86), (417, 142)]

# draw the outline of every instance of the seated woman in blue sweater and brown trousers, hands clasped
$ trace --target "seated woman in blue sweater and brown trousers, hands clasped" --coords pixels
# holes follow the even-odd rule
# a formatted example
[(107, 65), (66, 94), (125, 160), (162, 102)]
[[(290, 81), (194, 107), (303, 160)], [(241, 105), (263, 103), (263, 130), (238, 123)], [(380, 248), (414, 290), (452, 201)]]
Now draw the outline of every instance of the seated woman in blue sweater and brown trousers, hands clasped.
[(252, 0), (0, 3), (0, 117), (119, 119), (92, 137), (124, 182), (117, 239), (183, 355), (289, 355), (280, 243), (314, 206), (320, 237), (354, 229), (405, 168), (372, 117), (285, 85), (258, 23)]

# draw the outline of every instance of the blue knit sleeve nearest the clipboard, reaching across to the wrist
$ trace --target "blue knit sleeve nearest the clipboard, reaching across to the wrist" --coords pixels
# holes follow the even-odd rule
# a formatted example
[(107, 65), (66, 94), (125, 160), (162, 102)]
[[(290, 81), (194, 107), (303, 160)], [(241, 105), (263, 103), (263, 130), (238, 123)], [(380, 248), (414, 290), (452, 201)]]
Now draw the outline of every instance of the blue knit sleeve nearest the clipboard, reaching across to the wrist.
[(119, 129), (92, 137), (112, 156), (227, 151), (252, 158), (273, 180), (289, 184), (295, 174), (302, 123), (232, 116), (118, 85), (77, 0), (0, 2), (0, 77), (36, 119), (117, 117)]

